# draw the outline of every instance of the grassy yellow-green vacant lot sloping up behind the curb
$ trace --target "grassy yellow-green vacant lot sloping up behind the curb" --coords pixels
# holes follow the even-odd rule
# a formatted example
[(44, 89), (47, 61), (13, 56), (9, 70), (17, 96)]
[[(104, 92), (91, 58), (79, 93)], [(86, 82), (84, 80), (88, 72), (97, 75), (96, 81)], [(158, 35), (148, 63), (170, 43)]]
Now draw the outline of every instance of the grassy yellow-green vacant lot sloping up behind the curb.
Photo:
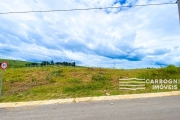
[(145, 90), (119, 90), (119, 78), (132, 77), (179, 79), (180, 68), (118, 70), (63, 66), (10, 67), (5, 71), (1, 102), (171, 91), (153, 90), (150, 84), (146, 84)]

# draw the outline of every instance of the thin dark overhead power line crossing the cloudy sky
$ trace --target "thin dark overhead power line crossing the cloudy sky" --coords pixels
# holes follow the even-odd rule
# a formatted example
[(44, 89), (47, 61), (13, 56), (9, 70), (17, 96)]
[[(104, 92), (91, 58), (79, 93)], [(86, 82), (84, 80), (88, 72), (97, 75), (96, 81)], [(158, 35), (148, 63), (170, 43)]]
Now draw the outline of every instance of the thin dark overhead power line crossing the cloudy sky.
[(144, 6), (159, 6), (159, 5), (170, 5), (175, 3), (159, 3), (159, 4), (145, 4), (145, 5), (134, 5), (134, 6), (119, 6), (119, 7), (102, 7), (102, 8), (82, 8), (82, 9), (66, 9), (66, 10), (40, 10), (40, 11), (19, 11), (19, 12), (1, 12), (0, 14), (19, 14), (19, 13), (42, 13), (42, 12), (69, 12), (69, 11), (85, 11), (85, 10), (97, 10), (97, 9), (115, 9), (115, 8), (131, 8), (131, 7), (144, 7)]

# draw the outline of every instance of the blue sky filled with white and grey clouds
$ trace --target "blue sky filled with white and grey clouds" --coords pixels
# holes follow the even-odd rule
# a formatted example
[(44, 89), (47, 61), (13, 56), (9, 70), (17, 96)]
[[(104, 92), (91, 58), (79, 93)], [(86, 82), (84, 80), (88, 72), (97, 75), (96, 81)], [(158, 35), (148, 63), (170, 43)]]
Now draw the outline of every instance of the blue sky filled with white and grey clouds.
[[(1, 0), (0, 12), (117, 7), (176, 0)], [(106, 68), (180, 65), (178, 7), (0, 15), (0, 58)]]

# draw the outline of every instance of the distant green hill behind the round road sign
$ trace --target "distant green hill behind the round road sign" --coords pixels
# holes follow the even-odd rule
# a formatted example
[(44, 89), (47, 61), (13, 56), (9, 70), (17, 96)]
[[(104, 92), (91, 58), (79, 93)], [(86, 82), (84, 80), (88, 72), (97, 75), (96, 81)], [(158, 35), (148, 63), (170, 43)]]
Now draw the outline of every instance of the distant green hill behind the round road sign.
[(25, 67), (26, 64), (31, 64), (32, 62), (20, 61), (20, 60), (9, 60), (9, 59), (0, 59), (1, 62), (7, 62), (8, 67)]

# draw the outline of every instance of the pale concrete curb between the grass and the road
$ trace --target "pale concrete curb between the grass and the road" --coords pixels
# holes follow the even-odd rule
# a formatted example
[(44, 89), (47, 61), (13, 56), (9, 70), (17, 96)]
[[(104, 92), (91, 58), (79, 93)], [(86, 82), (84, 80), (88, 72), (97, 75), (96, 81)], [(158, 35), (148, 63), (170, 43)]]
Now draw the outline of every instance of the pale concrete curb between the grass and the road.
[(135, 99), (135, 98), (151, 98), (180, 95), (180, 91), (172, 92), (159, 92), (159, 93), (144, 93), (144, 94), (130, 94), (130, 95), (115, 95), (115, 96), (100, 96), (100, 97), (84, 97), (84, 98), (70, 98), (70, 99), (57, 99), (57, 100), (44, 100), (44, 101), (31, 101), (31, 102), (12, 102), (0, 103), (0, 108), (14, 108), (14, 107), (29, 107), (49, 104), (64, 104), (88, 101), (103, 101), (103, 100), (122, 100), (122, 99)]

